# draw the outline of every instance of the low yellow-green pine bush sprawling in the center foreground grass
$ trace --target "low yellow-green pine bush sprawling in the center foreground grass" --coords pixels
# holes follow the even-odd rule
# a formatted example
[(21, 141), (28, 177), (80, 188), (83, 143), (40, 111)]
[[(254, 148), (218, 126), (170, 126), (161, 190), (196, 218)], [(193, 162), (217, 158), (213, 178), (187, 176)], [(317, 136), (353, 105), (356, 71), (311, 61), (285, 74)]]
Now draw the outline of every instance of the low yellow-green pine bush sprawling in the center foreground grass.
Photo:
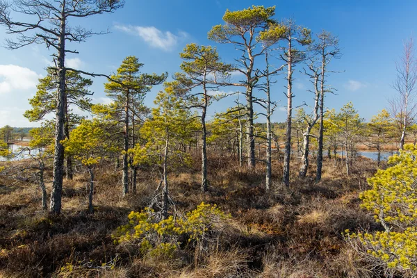
[(157, 221), (154, 215), (150, 208), (140, 212), (132, 211), (128, 216), (129, 223), (118, 227), (113, 234), (115, 243), (138, 242), (142, 254), (171, 256), (181, 243), (181, 235), (185, 235), (181, 238), (186, 239), (186, 243), (201, 240), (208, 231), (229, 218), (216, 205), (204, 202), (184, 218), (170, 216)]

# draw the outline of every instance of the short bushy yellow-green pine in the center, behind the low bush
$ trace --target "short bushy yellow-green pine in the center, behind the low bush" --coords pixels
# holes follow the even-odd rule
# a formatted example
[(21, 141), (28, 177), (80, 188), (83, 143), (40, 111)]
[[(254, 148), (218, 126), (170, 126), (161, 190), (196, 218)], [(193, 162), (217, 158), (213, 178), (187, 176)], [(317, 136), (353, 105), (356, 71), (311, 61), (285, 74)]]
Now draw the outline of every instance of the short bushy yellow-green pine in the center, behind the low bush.
[(162, 218), (167, 218), (169, 203), (168, 172), (178, 165), (190, 162), (190, 156), (181, 148), (181, 142), (193, 136), (199, 129), (195, 117), (184, 110), (183, 101), (177, 97), (172, 88), (165, 88), (156, 95), (156, 108), (140, 129), (146, 138), (145, 145), (136, 145), (133, 149), (136, 164), (157, 165), (161, 169)]

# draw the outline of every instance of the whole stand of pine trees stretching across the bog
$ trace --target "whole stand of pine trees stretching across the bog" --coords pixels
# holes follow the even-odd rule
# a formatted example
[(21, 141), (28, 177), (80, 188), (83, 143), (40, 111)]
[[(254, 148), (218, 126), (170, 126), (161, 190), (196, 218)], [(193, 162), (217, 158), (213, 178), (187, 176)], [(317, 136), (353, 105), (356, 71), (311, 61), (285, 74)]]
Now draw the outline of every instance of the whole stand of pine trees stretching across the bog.
[[(327, 149), (327, 156), (333, 156), (335, 161), (338, 150), (343, 150), (346, 172), (350, 174), (355, 146), (365, 142), (380, 153), (389, 138), (387, 134), (395, 126), (395, 120), (391, 120), (386, 111), (375, 116), (369, 124), (363, 124), (352, 104), (346, 104), (338, 113), (327, 111), (325, 96), (334, 90), (327, 85), (331, 72), (328, 67), (333, 58), (341, 56), (338, 39), (326, 31), (313, 34), (292, 19), (278, 21), (274, 18), (275, 7), (227, 10), (223, 23), (213, 26), (208, 31), (208, 38), (238, 49), (240, 56), (234, 58), (235, 63), (222, 62), (215, 47), (188, 44), (180, 54), (183, 60), (181, 72), (167, 81), (167, 73), (142, 72), (144, 65), (135, 56), (126, 57), (117, 73), (112, 75), (65, 67), (65, 55), (76, 52), (67, 49), (65, 43), (82, 42), (94, 34), (85, 28), (70, 27), (70, 19), (111, 13), (122, 8), (124, 2), (52, 2), (24, 1), (24, 6), (23, 2), (15, 3), (13, 10), (42, 17), (38, 23), (22, 23), (13, 21), (10, 6), (1, 1), (0, 24), (8, 28), (8, 33), (20, 35), (16, 40), (8, 40), (10, 49), (33, 42), (43, 42), (56, 49), (56, 66), (49, 67), (47, 76), (40, 79), (38, 91), (30, 99), (32, 108), (24, 113), (30, 121), (42, 121), (40, 128), (31, 131), (31, 147), (42, 149), (36, 159), (54, 160), (53, 213), (60, 213), (63, 175), (72, 179), (74, 163), (85, 166), (90, 172), (90, 210), (95, 165), (111, 161), (116, 169), (121, 169), (122, 195), (136, 193), (139, 167), (157, 167), (161, 172), (162, 211), (166, 216), (169, 202), (167, 172), (190, 163), (192, 150), (201, 154), (202, 192), (206, 192), (209, 185), (208, 152), (231, 154), (240, 167), (245, 160), (250, 168), (256, 163), (265, 164), (265, 188), (269, 190), (272, 186), (272, 149), (279, 155), (280, 142), (284, 142), (282, 182), (288, 187), (291, 158), (297, 158), (291, 156), (295, 142), (302, 162), (299, 176), (304, 178), (309, 169), (313, 138), (316, 181), (319, 182), (324, 150)], [(311, 111), (300, 108), (293, 115), (296, 66), (310, 79), (312, 97), (303, 100)], [(238, 80), (231, 78), (235, 72), (240, 74)], [(286, 80), (287, 117), (281, 126), (284, 132), (271, 121), (277, 108), (277, 102), (272, 101), (272, 95), (276, 94), (272, 83), (279, 74), (284, 74)], [(89, 90), (92, 80), (86, 76), (106, 76), (108, 81), (104, 88), (113, 101), (111, 104), (92, 104)], [(163, 90), (156, 96), (155, 106), (146, 107), (147, 92), (160, 84), (163, 84)], [(226, 87), (238, 89), (236, 106), (208, 120), (208, 106), (223, 97), (230, 97), (216, 93)], [(239, 95), (243, 95), (245, 101), (239, 101)], [(75, 107), (91, 113), (92, 119), (74, 113)], [(44, 120), (49, 114), (55, 115), (54, 120)], [(398, 118), (402, 120), (401, 115)], [(264, 120), (265, 124), (258, 123)], [(411, 130), (410, 126), (407, 124), (407, 130)], [(363, 140), (363, 136), (367, 139)]]

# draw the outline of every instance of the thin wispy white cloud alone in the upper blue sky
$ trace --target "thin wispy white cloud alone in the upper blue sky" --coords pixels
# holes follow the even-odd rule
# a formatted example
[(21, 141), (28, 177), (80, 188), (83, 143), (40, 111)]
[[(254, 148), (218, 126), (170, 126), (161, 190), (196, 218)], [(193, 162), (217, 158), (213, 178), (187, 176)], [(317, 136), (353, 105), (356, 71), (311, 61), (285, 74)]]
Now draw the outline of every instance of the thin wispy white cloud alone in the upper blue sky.
[(163, 49), (164, 51), (172, 50), (181, 38), (188, 37), (188, 33), (183, 31), (179, 31), (178, 35), (174, 35), (170, 31), (163, 32), (154, 26), (115, 25), (115, 28), (125, 33), (138, 35), (152, 47)]

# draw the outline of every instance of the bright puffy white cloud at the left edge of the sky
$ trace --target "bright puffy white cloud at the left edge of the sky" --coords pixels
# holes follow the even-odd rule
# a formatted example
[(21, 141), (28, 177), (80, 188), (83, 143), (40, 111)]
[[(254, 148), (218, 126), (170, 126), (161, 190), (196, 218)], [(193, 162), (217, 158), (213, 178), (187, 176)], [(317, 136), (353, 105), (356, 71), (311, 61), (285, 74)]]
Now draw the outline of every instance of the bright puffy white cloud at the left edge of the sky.
[(0, 94), (36, 88), (40, 78), (42, 75), (27, 67), (0, 65)]

